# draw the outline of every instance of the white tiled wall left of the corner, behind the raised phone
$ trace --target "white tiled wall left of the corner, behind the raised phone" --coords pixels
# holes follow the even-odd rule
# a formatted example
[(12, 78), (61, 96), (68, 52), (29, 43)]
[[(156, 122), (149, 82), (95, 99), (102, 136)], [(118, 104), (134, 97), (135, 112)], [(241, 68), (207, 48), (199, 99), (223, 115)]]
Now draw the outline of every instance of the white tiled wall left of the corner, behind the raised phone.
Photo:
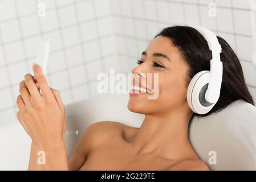
[(118, 69), (108, 1), (0, 0), (0, 125), (18, 121), (19, 82), (34, 75), (40, 38), (50, 41), (47, 80), (64, 104), (95, 96), (97, 74)]

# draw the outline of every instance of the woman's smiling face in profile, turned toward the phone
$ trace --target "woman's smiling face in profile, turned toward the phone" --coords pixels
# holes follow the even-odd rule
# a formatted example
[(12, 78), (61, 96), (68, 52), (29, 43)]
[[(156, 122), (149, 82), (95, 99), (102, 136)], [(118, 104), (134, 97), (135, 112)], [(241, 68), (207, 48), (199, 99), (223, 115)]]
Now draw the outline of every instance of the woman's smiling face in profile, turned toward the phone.
[[(168, 58), (160, 54), (153, 55), (154, 53), (160, 53)], [(132, 73), (144, 73), (146, 80), (149, 80), (147, 73), (151, 73), (152, 89), (156, 89), (158, 85), (158, 97), (152, 100), (148, 97), (150, 93), (130, 95), (128, 109), (135, 113), (153, 114), (188, 106), (186, 102), (187, 71), (188, 65), (182, 60), (178, 48), (172, 46), (172, 40), (157, 36), (148, 44), (141, 55), (141, 62), (132, 69)], [(154, 73), (159, 77), (157, 85)], [(141, 78), (139, 84), (141, 86)]]

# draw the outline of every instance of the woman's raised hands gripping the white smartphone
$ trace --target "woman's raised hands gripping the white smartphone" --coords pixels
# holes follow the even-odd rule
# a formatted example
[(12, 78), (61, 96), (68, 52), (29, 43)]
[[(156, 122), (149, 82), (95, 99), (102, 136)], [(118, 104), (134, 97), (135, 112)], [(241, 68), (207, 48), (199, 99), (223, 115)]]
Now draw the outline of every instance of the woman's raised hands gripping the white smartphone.
[(30, 135), (32, 143), (42, 148), (58, 147), (64, 143), (65, 107), (58, 90), (48, 86), (39, 65), (36, 64), (33, 71), (33, 77), (28, 73), (19, 84), (21, 94), (17, 97), (17, 118)]

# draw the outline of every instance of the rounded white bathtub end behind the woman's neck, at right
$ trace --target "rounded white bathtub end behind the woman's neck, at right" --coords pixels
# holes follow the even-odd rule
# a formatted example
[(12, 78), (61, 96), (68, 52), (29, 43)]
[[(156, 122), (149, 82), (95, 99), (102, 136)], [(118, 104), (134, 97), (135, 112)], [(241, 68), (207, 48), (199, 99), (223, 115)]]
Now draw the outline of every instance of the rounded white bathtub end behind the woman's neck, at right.
[[(193, 119), (190, 142), (213, 170), (256, 169), (256, 107), (237, 100), (219, 113)], [(217, 164), (209, 164), (216, 155)]]

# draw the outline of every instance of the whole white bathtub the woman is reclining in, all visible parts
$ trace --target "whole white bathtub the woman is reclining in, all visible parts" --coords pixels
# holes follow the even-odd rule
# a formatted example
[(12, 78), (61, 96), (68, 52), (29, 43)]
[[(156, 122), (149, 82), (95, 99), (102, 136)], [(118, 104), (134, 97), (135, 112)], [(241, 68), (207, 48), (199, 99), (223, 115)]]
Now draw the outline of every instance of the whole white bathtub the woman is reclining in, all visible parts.
[[(128, 94), (107, 94), (66, 105), (67, 155), (91, 123), (117, 121), (140, 127), (144, 115), (127, 109)], [(212, 170), (256, 170), (256, 107), (238, 100), (220, 113), (194, 118), (190, 142)], [(31, 140), (19, 122), (0, 127), (0, 170), (27, 170)], [(217, 164), (209, 164), (211, 151)]]

